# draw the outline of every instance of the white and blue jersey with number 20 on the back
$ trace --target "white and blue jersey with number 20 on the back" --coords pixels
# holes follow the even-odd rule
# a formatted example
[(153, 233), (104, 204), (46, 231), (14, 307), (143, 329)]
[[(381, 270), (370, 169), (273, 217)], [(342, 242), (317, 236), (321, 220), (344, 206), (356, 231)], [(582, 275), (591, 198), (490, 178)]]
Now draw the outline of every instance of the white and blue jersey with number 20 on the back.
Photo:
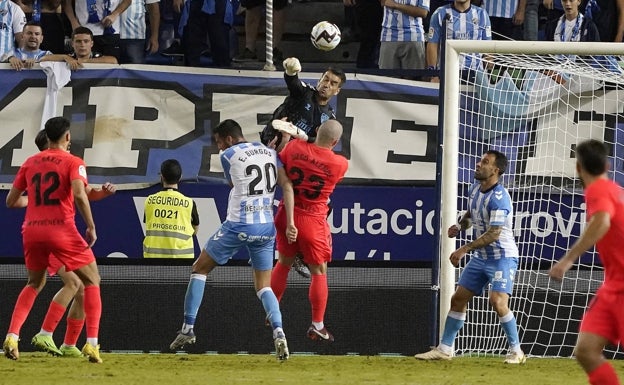
[(221, 153), (225, 177), (232, 185), (227, 221), (273, 223), (273, 195), (277, 187), (277, 153), (261, 143), (238, 143)]

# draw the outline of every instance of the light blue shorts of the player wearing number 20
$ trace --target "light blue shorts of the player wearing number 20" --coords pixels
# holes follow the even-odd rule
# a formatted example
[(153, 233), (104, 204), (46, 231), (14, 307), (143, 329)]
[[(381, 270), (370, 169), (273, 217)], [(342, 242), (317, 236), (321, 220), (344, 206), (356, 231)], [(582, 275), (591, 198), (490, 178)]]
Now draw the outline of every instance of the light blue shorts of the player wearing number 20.
[(242, 247), (247, 248), (256, 270), (273, 268), (275, 226), (273, 223), (246, 224), (225, 221), (208, 238), (204, 249), (219, 265), (225, 265)]

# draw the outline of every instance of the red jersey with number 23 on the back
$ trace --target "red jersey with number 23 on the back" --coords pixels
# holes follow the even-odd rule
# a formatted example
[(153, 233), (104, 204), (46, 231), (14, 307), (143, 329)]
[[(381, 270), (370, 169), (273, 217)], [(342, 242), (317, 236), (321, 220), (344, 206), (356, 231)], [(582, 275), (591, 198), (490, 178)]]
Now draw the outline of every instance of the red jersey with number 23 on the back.
[(349, 167), (347, 159), (299, 139), (288, 142), (279, 158), (295, 190), (295, 212), (326, 217), (329, 196)]

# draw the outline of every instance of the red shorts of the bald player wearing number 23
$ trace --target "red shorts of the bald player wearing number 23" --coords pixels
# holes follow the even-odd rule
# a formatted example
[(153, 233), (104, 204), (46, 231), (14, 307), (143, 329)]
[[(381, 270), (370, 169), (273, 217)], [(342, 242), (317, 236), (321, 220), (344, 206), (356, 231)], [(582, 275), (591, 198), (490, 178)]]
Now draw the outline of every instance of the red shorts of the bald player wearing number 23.
[(331, 261), (332, 237), (325, 216), (295, 213), (295, 226), (299, 230), (297, 242), (289, 244), (286, 239), (286, 211), (280, 206), (275, 215), (277, 251), (287, 257), (301, 253), (303, 261), (309, 265), (321, 265)]

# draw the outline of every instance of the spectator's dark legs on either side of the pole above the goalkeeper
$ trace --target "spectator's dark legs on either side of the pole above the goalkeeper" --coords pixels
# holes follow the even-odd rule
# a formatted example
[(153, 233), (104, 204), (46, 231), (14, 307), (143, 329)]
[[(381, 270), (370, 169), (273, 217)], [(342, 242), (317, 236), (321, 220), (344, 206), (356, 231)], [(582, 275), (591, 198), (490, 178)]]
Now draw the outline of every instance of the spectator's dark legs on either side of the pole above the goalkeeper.
[[(245, 8), (245, 50), (234, 57), (235, 62), (258, 60), (256, 54), (256, 41), (265, 12), (264, 0), (241, 0), (241, 6)], [(286, 6), (288, 0), (276, 0), (273, 2), (273, 62), (282, 63), (284, 54), (280, 49), (284, 25), (286, 23)]]

